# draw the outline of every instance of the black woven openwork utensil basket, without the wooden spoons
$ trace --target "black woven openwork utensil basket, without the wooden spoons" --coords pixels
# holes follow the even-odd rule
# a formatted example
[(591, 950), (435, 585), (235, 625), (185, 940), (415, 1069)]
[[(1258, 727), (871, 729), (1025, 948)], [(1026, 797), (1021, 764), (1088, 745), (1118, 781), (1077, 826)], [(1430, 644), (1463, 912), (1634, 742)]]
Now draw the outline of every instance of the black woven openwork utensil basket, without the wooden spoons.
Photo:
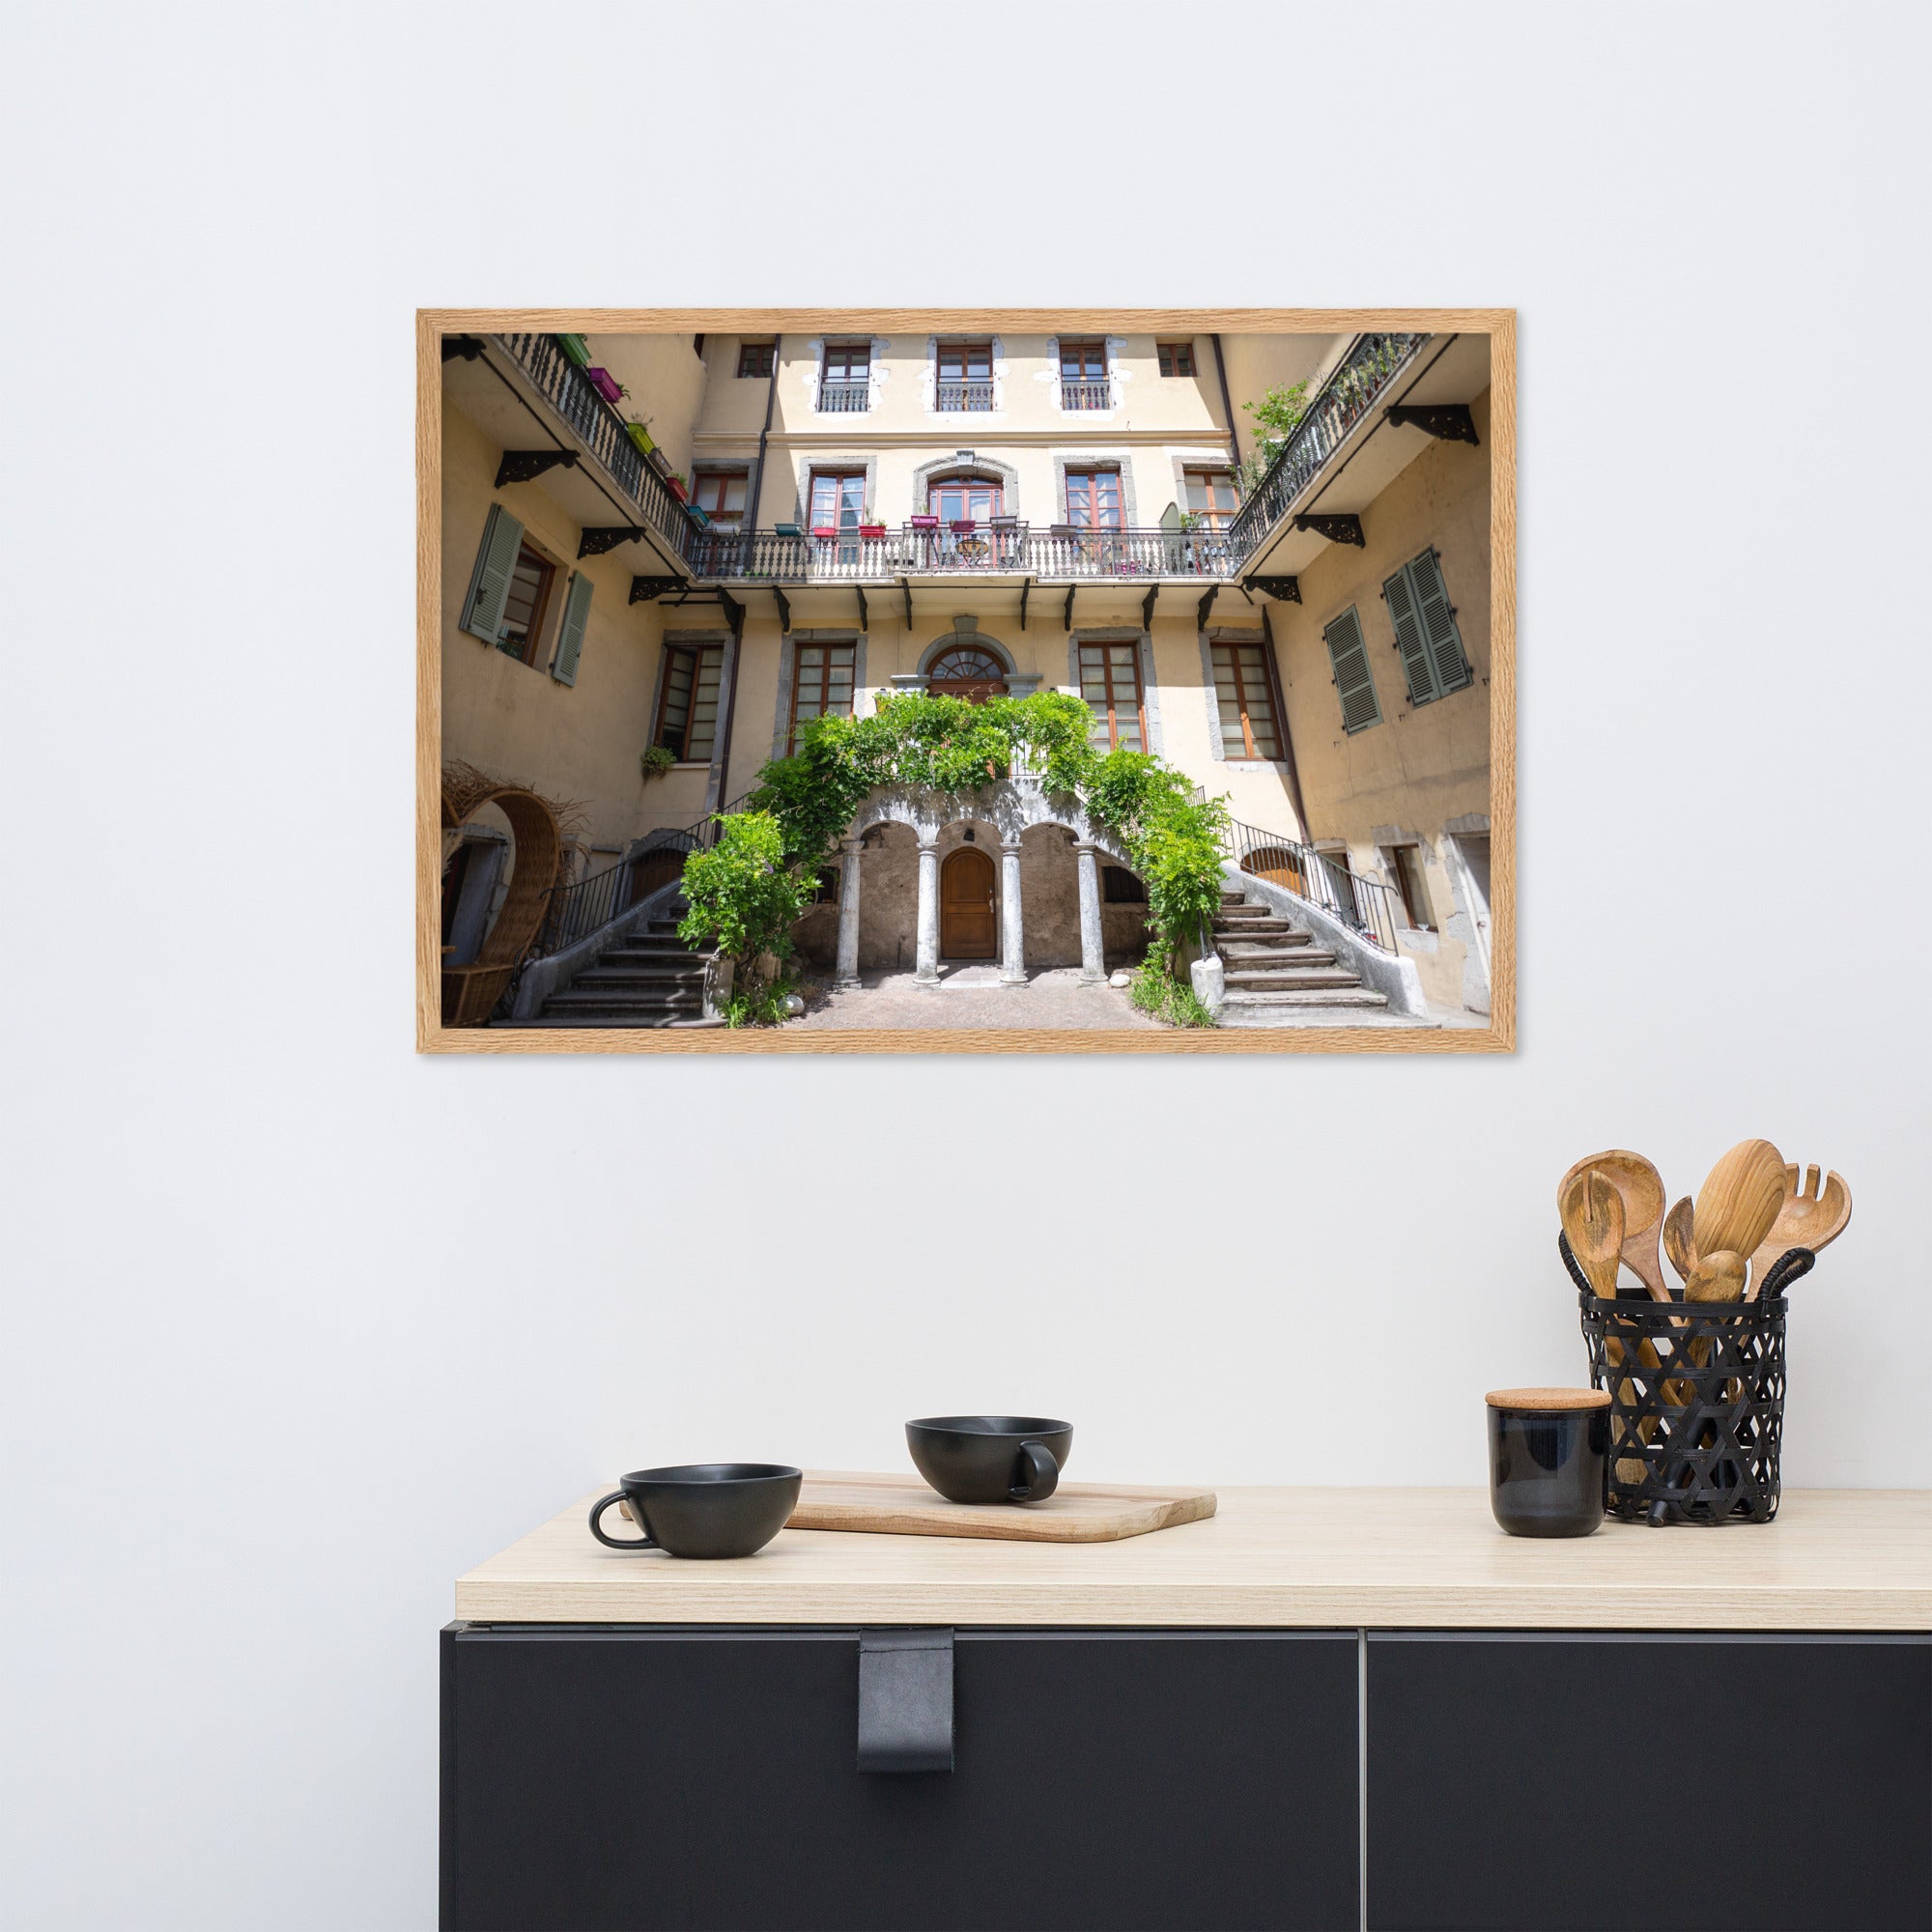
[(1785, 1287), (1810, 1273), (1812, 1250), (1783, 1254), (1748, 1302), (1605, 1300), (1563, 1235), (1557, 1252), (1578, 1291), (1590, 1385), (1609, 1391), (1607, 1513), (1650, 1524), (1770, 1522), (1785, 1428)]

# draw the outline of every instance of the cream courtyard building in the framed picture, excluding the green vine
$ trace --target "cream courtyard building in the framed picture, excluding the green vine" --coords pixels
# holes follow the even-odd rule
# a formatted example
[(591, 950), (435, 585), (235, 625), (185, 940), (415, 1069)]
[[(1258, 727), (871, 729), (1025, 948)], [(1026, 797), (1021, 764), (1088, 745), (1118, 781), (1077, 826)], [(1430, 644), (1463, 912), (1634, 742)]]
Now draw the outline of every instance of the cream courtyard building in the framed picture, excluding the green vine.
[[(466, 1022), (715, 1018), (678, 879), (769, 759), (893, 694), (1057, 690), (1227, 800), (1217, 1024), (1486, 1024), (1490, 363), (1484, 334), (444, 334), (442, 761), (564, 848)], [(458, 972), (516, 833), (446, 811), (442, 858)], [(796, 1026), (1155, 1024), (1117, 983), (1142, 881), (1024, 773), (875, 794), (819, 877)]]

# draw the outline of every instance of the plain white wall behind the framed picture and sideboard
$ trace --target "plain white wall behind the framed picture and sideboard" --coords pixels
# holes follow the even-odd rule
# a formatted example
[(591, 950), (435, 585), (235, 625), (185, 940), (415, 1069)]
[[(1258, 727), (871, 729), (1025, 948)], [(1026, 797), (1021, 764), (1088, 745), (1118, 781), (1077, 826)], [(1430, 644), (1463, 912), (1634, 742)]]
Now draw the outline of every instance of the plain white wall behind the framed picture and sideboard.
[[(943, 110), (937, 15), (750, 27), (580, 8), (531, 93), (527, 8), (14, 17), (14, 1924), (429, 1926), (450, 1580), (645, 1461), (995, 1405), (1086, 1476), (1478, 1482), (1482, 1391), (1582, 1376), (1596, 1146), (1849, 1175), (1789, 1476), (1932, 1484), (1926, 14), (1385, 4), (1337, 66), (1122, 6)], [(881, 193), (970, 106), (1041, 211), (1068, 104), (1182, 106), (1126, 251), (829, 249), (753, 137), (806, 73)], [(1182, 126), (1248, 135), (1208, 232)], [(1063, 298), (1520, 305), (1520, 1051), (415, 1059), (412, 307)]]

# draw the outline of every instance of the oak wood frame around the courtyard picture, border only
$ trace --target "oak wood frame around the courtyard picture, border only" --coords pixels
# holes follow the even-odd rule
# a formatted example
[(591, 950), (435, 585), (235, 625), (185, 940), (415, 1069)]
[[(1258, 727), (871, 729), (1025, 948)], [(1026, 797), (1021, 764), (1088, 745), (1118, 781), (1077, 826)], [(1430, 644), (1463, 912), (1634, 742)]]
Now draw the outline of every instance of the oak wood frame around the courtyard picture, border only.
[[(991, 334), (1428, 330), (1490, 338), (1490, 1026), (1486, 1028), (489, 1028), (440, 1005), (444, 334)], [(1517, 1045), (1517, 311), (1515, 309), (417, 309), (415, 313), (415, 1047), (419, 1053), (1513, 1053)]]

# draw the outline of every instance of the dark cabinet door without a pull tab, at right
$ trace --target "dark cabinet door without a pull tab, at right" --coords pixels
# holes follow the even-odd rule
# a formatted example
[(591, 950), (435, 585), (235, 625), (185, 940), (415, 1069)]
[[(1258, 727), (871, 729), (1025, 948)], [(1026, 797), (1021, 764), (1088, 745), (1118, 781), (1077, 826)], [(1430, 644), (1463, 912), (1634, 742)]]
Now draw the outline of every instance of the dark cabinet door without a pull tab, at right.
[(1370, 1634), (1368, 1924), (1926, 1932), (1932, 1640)]

